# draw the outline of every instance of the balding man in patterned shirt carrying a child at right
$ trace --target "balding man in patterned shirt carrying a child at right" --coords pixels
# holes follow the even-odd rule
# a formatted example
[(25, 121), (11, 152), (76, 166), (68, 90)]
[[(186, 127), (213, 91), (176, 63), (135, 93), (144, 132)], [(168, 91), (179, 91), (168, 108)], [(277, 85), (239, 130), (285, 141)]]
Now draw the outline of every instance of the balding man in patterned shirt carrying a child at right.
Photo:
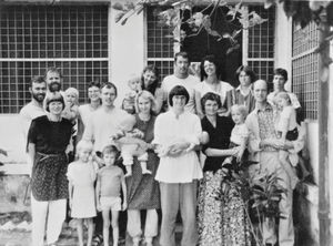
[[(292, 246), (294, 245), (293, 191), (287, 170), (279, 161), (279, 150), (301, 150), (304, 139), (300, 135), (293, 142), (283, 143), (280, 141), (274, 129), (273, 107), (268, 102), (268, 83), (263, 80), (255, 81), (253, 93), (256, 102), (255, 109), (248, 115), (245, 124), (250, 132), (251, 161), (256, 161), (259, 164), (252, 165), (249, 171), (252, 176), (276, 173), (280, 185), (285, 188), (279, 203), (280, 213), (283, 216), (279, 218), (279, 245)], [(275, 227), (270, 226), (269, 223), (263, 224), (263, 240), (265, 245), (275, 245), (278, 242)]]

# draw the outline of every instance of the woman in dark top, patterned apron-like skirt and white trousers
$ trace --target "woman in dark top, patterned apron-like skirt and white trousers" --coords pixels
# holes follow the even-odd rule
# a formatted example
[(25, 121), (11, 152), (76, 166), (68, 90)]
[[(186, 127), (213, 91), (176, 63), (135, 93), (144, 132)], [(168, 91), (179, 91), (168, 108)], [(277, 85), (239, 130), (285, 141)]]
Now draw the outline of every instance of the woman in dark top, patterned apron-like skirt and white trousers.
[(32, 245), (41, 246), (44, 240), (56, 245), (65, 217), (68, 198), (65, 150), (69, 145), (72, 123), (61, 117), (64, 101), (59, 92), (46, 98), (47, 115), (34, 119), (28, 133), (28, 153), (32, 165), (31, 212)]

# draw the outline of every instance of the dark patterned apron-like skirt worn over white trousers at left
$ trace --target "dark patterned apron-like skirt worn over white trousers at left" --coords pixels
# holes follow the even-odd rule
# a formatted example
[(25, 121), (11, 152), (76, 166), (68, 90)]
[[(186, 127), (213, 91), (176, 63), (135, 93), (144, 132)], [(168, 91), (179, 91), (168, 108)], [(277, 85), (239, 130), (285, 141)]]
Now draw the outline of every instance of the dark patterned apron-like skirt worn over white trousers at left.
[(68, 158), (65, 154), (36, 153), (31, 176), (31, 191), (37, 201), (68, 198)]

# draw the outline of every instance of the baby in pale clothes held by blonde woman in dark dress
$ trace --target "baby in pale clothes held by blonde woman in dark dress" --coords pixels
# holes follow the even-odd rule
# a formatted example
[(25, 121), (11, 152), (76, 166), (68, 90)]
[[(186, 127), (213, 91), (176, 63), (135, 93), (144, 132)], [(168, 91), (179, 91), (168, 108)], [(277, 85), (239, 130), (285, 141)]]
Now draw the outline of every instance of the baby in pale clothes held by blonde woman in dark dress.
[(138, 156), (142, 174), (151, 174), (151, 171), (147, 168), (148, 153), (141, 147), (145, 145), (144, 141), (142, 141), (144, 135), (141, 131), (133, 129), (135, 123), (134, 116), (127, 117), (122, 121), (121, 129), (111, 136), (121, 150), (127, 177), (132, 176), (133, 156)]

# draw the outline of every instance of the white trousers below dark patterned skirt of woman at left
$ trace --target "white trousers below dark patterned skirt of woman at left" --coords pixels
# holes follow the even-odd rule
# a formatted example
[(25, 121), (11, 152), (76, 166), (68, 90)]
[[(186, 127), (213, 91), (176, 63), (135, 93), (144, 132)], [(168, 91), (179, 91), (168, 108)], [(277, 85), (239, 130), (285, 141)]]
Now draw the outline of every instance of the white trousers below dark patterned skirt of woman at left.
[(33, 246), (44, 245), (46, 229), (48, 244), (58, 240), (65, 218), (65, 205), (67, 199), (37, 201), (31, 194)]

